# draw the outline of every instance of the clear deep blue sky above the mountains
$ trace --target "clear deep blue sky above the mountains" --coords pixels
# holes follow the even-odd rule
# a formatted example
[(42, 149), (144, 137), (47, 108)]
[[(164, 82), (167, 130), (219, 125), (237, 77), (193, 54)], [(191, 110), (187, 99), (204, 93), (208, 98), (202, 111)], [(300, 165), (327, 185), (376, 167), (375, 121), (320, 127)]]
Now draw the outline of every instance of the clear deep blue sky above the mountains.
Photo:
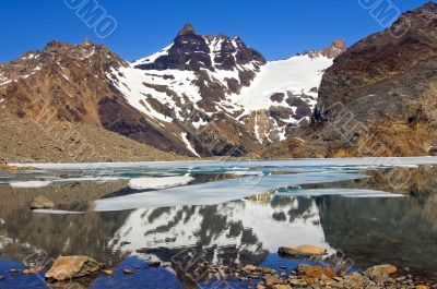
[[(64, 1), (84, 0), (2, 0), (0, 62), (54, 39), (81, 43), (85, 37), (133, 60), (167, 46), (185, 23), (201, 34), (239, 35), (269, 60), (321, 48), (336, 38), (351, 45), (383, 28), (359, 4), (373, 0), (92, 0), (117, 22), (114, 34), (102, 39)], [(391, 2), (406, 11), (426, 1)]]

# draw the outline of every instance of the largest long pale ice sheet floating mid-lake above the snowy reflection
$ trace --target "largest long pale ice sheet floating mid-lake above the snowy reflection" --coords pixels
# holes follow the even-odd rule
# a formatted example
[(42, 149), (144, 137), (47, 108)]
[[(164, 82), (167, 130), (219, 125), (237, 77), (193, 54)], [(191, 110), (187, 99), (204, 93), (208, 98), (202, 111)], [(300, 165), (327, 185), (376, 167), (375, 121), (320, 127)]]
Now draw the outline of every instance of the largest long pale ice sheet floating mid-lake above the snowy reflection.
[(179, 205), (215, 205), (290, 185), (347, 181), (362, 178), (366, 178), (366, 176), (331, 172), (252, 176), (97, 200), (94, 202), (94, 209), (106, 212)]

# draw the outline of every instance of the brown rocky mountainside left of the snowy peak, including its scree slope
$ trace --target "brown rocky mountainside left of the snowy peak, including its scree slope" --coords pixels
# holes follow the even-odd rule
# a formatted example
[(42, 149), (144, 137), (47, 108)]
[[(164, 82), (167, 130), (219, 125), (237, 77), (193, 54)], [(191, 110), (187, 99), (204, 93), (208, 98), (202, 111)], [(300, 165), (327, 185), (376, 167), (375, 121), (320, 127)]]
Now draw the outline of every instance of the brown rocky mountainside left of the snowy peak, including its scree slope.
[[(146, 116), (130, 107), (107, 80), (109, 68), (123, 65), (128, 65), (128, 63), (105, 46), (95, 45), (88, 40), (80, 45), (52, 41), (42, 51), (26, 52), (10, 63), (1, 64), (0, 118), (3, 125), (16, 125), (16, 129), (20, 130), (16, 131), (15, 136), (21, 135), (21, 140), (17, 141), (15, 136), (5, 137), (1, 153), (11, 156), (10, 148), (17, 146), (19, 149), (14, 150), (12, 158), (8, 157), (10, 161), (14, 160), (13, 157), (15, 160), (33, 161), (56, 159), (55, 156), (60, 157), (59, 153), (63, 154), (64, 161), (68, 161), (64, 155), (70, 157), (70, 161), (79, 161), (79, 159), (103, 161), (122, 159), (118, 156), (119, 149), (121, 149), (119, 146), (122, 143), (126, 149), (137, 152), (138, 157), (142, 159), (144, 159), (143, 155), (147, 155), (145, 159), (151, 159), (150, 155), (153, 155), (151, 152), (165, 156), (153, 147), (128, 142), (129, 140), (123, 140), (121, 136), (116, 137), (106, 130), (117, 132), (117, 130), (113, 130), (113, 127), (120, 124), (117, 123), (120, 119), (125, 121), (125, 127), (133, 127), (137, 130), (139, 125), (135, 123), (140, 122), (145, 123), (145, 129), (140, 127), (141, 133), (120, 131), (121, 134), (140, 142), (143, 142), (144, 137), (160, 140), (155, 137), (158, 130), (151, 128)], [(107, 99), (113, 99), (113, 104), (117, 104), (117, 109), (114, 105), (110, 107), (111, 109), (102, 109), (105, 108), (103, 104), (108, 103)], [(120, 113), (109, 115), (115, 110)], [(132, 119), (135, 121), (131, 121)], [(88, 130), (94, 134), (83, 134), (84, 127), (82, 124), (91, 125)], [(63, 130), (61, 134), (54, 135), (55, 128), (59, 125), (68, 129)], [(28, 139), (26, 135), (34, 134), (36, 129), (44, 135), (34, 139), (35, 147), (31, 149), (26, 142)], [(138, 134), (146, 136), (139, 137)], [(73, 142), (75, 144), (73, 146), (69, 141), (71, 137), (80, 139), (81, 142)], [(44, 139), (46, 142), (40, 143), (39, 141)], [(162, 150), (177, 152), (181, 155), (191, 155), (185, 146), (178, 146), (177, 142), (173, 144), (168, 139), (164, 139), (155, 147)], [(51, 141), (54, 141), (54, 145), (50, 145)], [(108, 143), (110, 141), (116, 143)], [(104, 143), (109, 150), (114, 148), (114, 153), (109, 153), (109, 155), (105, 153), (97, 157), (94, 156), (95, 153), (87, 153), (86, 158), (82, 157), (84, 152), (88, 152), (91, 146), (97, 143), (101, 145)], [(149, 144), (149, 142), (143, 143)], [(54, 157), (48, 157), (49, 149), (54, 149), (51, 154)], [(144, 152), (141, 152), (142, 149)]]

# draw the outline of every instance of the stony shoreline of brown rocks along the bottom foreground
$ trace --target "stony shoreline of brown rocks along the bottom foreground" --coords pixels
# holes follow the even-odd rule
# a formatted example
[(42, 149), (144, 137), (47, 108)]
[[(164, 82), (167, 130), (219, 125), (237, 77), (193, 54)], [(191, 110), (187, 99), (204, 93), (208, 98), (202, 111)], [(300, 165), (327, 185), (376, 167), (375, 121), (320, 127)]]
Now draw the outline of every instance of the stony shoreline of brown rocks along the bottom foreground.
[[(281, 251), (281, 250), (280, 250)], [(294, 251), (294, 256), (316, 256), (306, 252)], [(323, 253), (324, 254), (324, 253)], [(320, 254), (319, 254), (320, 255)], [(143, 269), (167, 268), (177, 275), (186, 275), (191, 278), (190, 272), (185, 272), (181, 264), (149, 262), (143, 267), (126, 267), (121, 269), (122, 275), (128, 277), (133, 274), (142, 274)], [(238, 288), (248, 289), (292, 289), (292, 288), (391, 288), (391, 289), (432, 289), (437, 288), (433, 281), (423, 281), (411, 274), (400, 274), (398, 268), (392, 265), (377, 265), (365, 272), (349, 269), (347, 272), (330, 266), (300, 264), (293, 270), (285, 266), (277, 268), (259, 267), (255, 265), (233, 266), (216, 265), (208, 262), (196, 264), (190, 270), (202, 272), (201, 278), (193, 280), (196, 286), (199, 284), (222, 284), (228, 286), (229, 281), (238, 281)], [(23, 270), (10, 269), (9, 274), (13, 277), (20, 275), (42, 274), (45, 268), (40, 265), (32, 265)], [(46, 282), (54, 288), (68, 288), (78, 285), (80, 288), (87, 288), (97, 277), (114, 277), (115, 268), (98, 263), (88, 256), (60, 256), (51, 267), (45, 273)], [(1, 281), (4, 276), (0, 275)], [(192, 279), (192, 278), (191, 278)], [(235, 284), (235, 282), (234, 282)], [(67, 287), (66, 287), (67, 286)], [(190, 287), (191, 288), (191, 287)], [(226, 288), (233, 288), (226, 287)]]

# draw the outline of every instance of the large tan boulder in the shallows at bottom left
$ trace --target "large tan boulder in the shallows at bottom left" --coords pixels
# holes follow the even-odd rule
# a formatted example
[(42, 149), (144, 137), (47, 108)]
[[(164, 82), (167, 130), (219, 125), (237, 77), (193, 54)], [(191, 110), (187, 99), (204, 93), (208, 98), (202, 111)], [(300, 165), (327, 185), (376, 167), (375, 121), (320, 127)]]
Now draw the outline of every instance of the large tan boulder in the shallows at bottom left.
[(46, 279), (64, 281), (98, 273), (103, 265), (87, 256), (60, 256), (46, 273)]

